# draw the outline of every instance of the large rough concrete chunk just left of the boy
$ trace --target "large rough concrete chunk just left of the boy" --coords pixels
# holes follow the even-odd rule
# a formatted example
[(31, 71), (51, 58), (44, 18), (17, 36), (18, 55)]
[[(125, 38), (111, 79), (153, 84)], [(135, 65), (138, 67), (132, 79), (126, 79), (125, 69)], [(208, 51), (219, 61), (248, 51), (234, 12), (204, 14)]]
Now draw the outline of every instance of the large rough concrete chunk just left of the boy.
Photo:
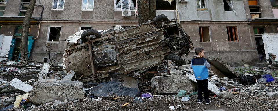
[(196, 86), (186, 75), (156, 76), (151, 79), (151, 87), (160, 94), (177, 93), (180, 90), (189, 92), (195, 90)]

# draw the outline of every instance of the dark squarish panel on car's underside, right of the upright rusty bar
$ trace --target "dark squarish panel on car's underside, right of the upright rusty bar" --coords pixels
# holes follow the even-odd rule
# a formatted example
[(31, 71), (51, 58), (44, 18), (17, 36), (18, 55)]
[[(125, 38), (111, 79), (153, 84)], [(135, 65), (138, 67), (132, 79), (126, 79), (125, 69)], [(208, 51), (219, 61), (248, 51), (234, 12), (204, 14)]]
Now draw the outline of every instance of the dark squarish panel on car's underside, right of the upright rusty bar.
[(113, 39), (98, 42), (94, 47), (94, 59), (98, 66), (116, 64), (117, 53)]

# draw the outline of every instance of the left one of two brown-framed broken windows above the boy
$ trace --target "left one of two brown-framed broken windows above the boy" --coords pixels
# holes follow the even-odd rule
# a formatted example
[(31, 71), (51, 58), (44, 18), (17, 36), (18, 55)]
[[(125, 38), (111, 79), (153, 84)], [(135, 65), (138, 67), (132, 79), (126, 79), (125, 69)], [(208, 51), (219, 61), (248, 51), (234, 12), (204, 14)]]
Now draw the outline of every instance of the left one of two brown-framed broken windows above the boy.
[(210, 42), (209, 27), (199, 27), (200, 42)]

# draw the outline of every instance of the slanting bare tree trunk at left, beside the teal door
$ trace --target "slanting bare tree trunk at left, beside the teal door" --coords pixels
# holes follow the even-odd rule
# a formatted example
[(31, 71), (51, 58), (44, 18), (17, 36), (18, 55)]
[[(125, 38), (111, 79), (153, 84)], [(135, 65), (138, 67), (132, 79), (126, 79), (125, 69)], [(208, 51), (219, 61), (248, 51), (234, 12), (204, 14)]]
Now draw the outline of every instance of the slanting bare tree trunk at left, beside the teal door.
[(29, 25), (30, 25), (30, 19), (33, 15), (35, 3), (36, 3), (36, 0), (30, 0), (26, 15), (25, 15), (23, 23), (22, 23), (22, 35), (21, 35), (21, 42), (20, 42), (20, 58), (23, 60), (20, 60), (20, 61), (24, 62), (24, 63), (27, 62), (24, 60), (27, 60), (27, 55), (28, 55), (27, 43), (28, 43)]

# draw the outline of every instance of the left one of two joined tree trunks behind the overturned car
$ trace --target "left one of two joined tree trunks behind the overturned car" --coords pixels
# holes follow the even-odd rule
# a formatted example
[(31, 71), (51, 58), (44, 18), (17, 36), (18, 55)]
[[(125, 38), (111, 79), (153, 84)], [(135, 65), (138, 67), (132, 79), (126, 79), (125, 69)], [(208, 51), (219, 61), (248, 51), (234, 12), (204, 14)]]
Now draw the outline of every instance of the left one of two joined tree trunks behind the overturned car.
[(149, 0), (138, 0), (138, 23), (142, 24), (149, 20)]

